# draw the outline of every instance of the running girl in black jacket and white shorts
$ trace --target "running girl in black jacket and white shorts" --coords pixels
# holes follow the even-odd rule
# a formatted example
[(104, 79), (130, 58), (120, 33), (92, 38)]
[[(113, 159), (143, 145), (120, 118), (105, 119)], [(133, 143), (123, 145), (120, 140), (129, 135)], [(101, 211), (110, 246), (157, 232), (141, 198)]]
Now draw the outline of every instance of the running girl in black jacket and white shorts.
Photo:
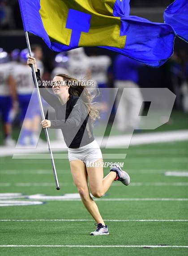
[[(35, 58), (28, 57), (28, 65), (34, 64), (37, 80), (40, 81), (41, 95), (43, 99), (55, 109), (56, 120), (43, 120), (43, 128), (60, 128), (64, 140), (68, 146), (68, 160), (81, 200), (90, 215), (97, 222), (97, 229), (90, 235), (109, 234), (98, 207), (90, 196), (90, 191), (96, 198), (102, 197), (110, 188), (113, 180), (120, 180), (124, 185), (130, 183), (130, 177), (119, 166), (112, 166), (110, 173), (103, 178), (103, 156), (94, 139), (92, 122), (98, 117), (98, 111), (91, 103), (91, 95), (85, 86), (65, 85), (64, 81), (76, 81), (65, 74), (56, 75), (53, 78), (51, 94), (43, 87), (40, 79), (40, 71), (37, 69)], [(97, 167), (89, 167), (90, 163), (99, 163)]]

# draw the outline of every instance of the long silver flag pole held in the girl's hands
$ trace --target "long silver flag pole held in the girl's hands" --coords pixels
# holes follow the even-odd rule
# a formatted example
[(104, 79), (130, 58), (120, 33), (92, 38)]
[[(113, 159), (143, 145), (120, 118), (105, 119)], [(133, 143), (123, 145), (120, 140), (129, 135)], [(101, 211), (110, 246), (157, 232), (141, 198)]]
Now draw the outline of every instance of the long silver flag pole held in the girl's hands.
[[(32, 55), (31, 55), (32, 54), (31, 53), (31, 47), (30, 47), (30, 40), (29, 40), (29, 36), (28, 36), (28, 31), (25, 32), (25, 36), (26, 36), (28, 52), (29, 52), (29, 55), (32, 57)], [(35, 70), (34, 70), (34, 64), (32, 64), (31, 67), (32, 67), (32, 72), (33, 72), (33, 77), (34, 77), (34, 85), (35, 85), (35, 87), (37, 89), (37, 95), (38, 95), (40, 111), (41, 111), (42, 118), (44, 120), (45, 119), (45, 115), (44, 115), (44, 110), (43, 110), (43, 104), (42, 104), (42, 101), (41, 101), (40, 91), (39, 91), (39, 88), (38, 88), (37, 76), (36, 76), (36, 73), (35, 73)], [(45, 135), (46, 135), (46, 139), (47, 139), (48, 150), (49, 150), (49, 153), (50, 153), (51, 165), (52, 165), (52, 168), (53, 168), (54, 178), (55, 178), (55, 181), (56, 181), (56, 189), (59, 190), (60, 189), (60, 185), (59, 185), (58, 178), (57, 178), (56, 166), (55, 166), (55, 163), (54, 163), (54, 157), (53, 157), (52, 150), (51, 150), (49, 134), (48, 134), (47, 128), (45, 128), (44, 130), (45, 130)]]

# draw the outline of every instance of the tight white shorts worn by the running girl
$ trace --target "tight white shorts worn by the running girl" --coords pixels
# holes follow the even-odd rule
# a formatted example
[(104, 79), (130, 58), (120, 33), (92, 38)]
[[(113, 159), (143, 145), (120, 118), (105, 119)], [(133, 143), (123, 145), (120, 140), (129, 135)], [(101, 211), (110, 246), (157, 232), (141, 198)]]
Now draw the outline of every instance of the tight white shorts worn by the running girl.
[(83, 161), (86, 166), (90, 163), (96, 162), (98, 159), (103, 159), (103, 155), (97, 141), (94, 139), (90, 144), (80, 148), (68, 148), (69, 162), (77, 159)]

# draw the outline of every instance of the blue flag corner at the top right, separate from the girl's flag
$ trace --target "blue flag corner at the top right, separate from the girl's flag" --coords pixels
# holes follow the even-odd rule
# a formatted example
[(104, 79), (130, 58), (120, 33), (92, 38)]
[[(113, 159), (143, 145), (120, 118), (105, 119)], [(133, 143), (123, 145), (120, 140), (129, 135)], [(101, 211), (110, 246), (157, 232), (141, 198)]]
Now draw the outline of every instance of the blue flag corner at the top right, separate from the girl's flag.
[(188, 42), (188, 0), (175, 0), (164, 12), (164, 21), (177, 36)]

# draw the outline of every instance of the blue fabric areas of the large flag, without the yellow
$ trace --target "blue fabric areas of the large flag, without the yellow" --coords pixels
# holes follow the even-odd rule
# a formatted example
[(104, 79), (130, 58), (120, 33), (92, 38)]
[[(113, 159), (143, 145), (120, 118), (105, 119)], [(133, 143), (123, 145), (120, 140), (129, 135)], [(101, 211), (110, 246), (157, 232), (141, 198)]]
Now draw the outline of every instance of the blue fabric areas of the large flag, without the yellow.
[[(85, 1), (88, 1), (88, 4), (92, 2), (89, 0)], [(80, 1), (79, 4), (84, 3), (85, 1)], [(113, 4), (113, 15), (109, 12), (108, 16), (111, 15), (112, 18), (120, 18), (120, 36), (126, 36), (126, 41), (123, 47), (119, 48), (107, 45), (97, 45), (94, 38), (92, 46), (100, 46), (116, 51), (153, 67), (161, 66), (171, 57), (171, 54), (173, 53), (175, 32), (170, 25), (150, 22), (147, 19), (137, 16), (129, 16), (129, 0), (116, 0), (115, 3), (114, 0), (106, 0), (106, 2), (107, 4)], [(64, 3), (67, 3), (68, 8), (69, 1)], [(86, 22), (78, 22), (82, 27), (77, 27), (77, 23), (74, 22), (75, 30), (72, 29), (70, 43), (69, 45), (65, 45), (53, 40), (53, 38), (47, 34), (47, 31), (43, 26), (43, 17), (41, 17), (39, 13), (40, 0), (19, 0), (19, 4), (24, 31), (29, 31), (42, 37), (50, 49), (61, 52), (81, 46), (88, 46), (87, 42), (85, 45), (80, 45), (79, 40), (82, 32), (86, 34), (90, 31), (90, 19), (92, 18), (93, 13), (68, 9), (68, 20), (63, 24), (64, 27), (72, 27), (72, 21), (75, 20), (75, 17), (78, 18), (79, 21), (82, 19), (83, 21), (86, 20)], [(95, 11), (97, 12), (98, 10)], [(47, 13), (47, 15), (51, 15), (51, 13)], [(62, 24), (56, 24), (56, 26), (62, 26)], [(101, 24), (101, 26), (103, 26), (103, 24)]]

